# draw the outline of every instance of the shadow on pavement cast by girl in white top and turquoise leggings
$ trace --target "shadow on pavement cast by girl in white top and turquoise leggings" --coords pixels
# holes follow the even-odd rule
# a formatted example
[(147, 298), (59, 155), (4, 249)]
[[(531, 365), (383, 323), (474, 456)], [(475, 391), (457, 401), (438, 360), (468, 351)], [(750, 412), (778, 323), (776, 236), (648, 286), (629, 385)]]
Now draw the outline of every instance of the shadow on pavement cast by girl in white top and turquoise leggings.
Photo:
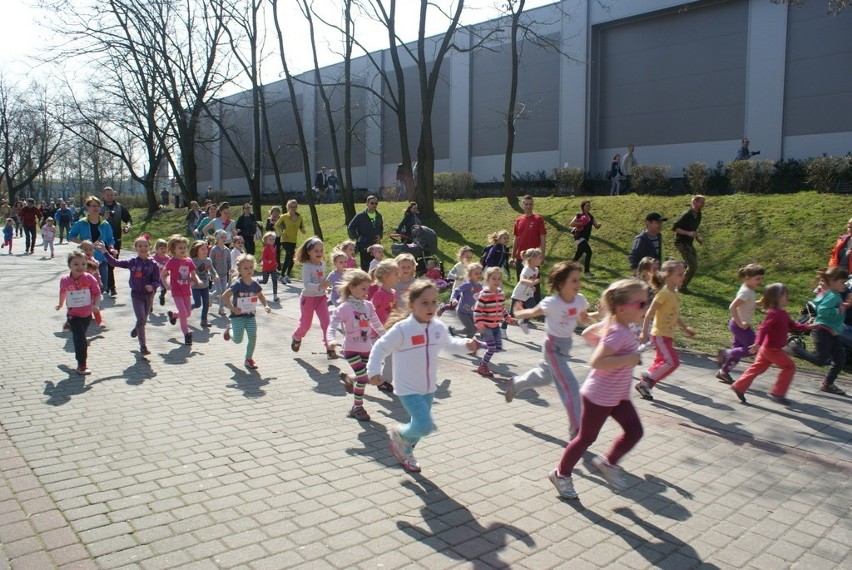
[[(482, 526), (470, 509), (444, 493), (428, 478), (420, 473), (412, 473), (411, 476), (414, 480), (406, 479), (402, 486), (423, 500), (420, 513), (428, 528), (408, 521), (397, 521), (396, 526), (418, 543), (453, 560), (480, 559), (494, 568), (508, 566), (500, 559), (499, 553), (512, 540), (520, 540), (528, 547), (535, 546), (535, 540), (526, 531), (499, 522)], [(473, 567), (476, 567), (475, 563)]]

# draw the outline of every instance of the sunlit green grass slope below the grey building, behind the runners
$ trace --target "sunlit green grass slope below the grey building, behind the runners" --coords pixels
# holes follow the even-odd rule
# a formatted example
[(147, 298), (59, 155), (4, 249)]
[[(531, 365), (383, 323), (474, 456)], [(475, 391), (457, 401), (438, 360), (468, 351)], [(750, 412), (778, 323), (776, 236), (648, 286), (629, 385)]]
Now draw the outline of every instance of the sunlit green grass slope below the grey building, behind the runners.
[[(568, 223), (579, 210), (585, 197), (536, 198), (535, 212), (547, 222), (547, 260), (543, 273), (553, 263), (574, 257), (574, 240)], [(616, 196), (592, 197), (592, 214), (602, 224), (592, 232), (592, 272), (584, 278), (583, 294), (595, 304), (600, 293), (612, 281), (629, 276), (627, 253), (633, 236), (644, 228), (649, 212), (669, 218), (663, 225), (663, 255), (678, 258), (674, 248), (671, 222), (689, 207), (689, 196)], [(406, 203), (381, 202), (385, 235), (399, 221)], [(263, 207), (266, 214), (269, 206)], [(506, 229), (511, 232), (518, 212), (503, 198), (482, 198), (436, 202), (434, 219), (423, 220), (439, 236), (440, 257), (446, 269), (455, 262), (462, 245), (474, 248), (477, 255), (486, 244), (488, 234)], [(359, 206), (359, 209), (361, 206)], [(317, 206), (326, 244), (332, 247), (346, 239), (343, 209), (339, 204)], [(310, 212), (300, 212), (310, 228)], [(134, 231), (149, 233), (154, 238), (183, 233), (186, 210), (163, 210), (151, 220), (143, 220), (145, 212), (133, 211)], [(727, 331), (728, 305), (739, 283), (737, 269), (747, 263), (760, 263), (766, 270), (765, 283), (780, 281), (790, 291), (791, 313), (797, 314), (811, 298), (814, 273), (825, 267), (838, 235), (844, 232), (852, 217), (852, 200), (848, 196), (802, 192), (784, 195), (710, 196), (704, 208), (700, 233), (704, 244), (698, 245), (698, 274), (690, 284), (692, 294), (681, 299), (681, 314), (698, 334), (681, 336), (677, 344), (698, 352), (715, 354), (730, 342)], [(310, 230), (309, 230), (310, 231)], [(390, 240), (385, 240), (390, 250)], [(330, 251), (327, 247), (326, 251)], [(258, 250), (259, 252), (259, 250)], [(298, 271), (298, 270), (297, 270)], [(514, 276), (512, 277), (514, 280)], [(513, 282), (506, 284), (506, 289)], [(760, 315), (758, 315), (760, 318)]]

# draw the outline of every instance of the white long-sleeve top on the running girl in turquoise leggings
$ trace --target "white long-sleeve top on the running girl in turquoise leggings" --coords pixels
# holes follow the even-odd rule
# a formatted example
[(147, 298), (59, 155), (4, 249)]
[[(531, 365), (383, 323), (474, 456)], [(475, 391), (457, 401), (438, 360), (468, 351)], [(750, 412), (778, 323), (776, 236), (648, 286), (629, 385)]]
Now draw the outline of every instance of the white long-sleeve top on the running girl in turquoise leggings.
[(468, 352), (467, 340), (450, 336), (447, 326), (439, 319), (421, 323), (409, 315), (373, 345), (367, 361), (367, 377), (380, 374), (382, 362), (391, 356), (394, 394), (431, 394), (437, 389), (438, 352), (442, 348), (458, 354)]

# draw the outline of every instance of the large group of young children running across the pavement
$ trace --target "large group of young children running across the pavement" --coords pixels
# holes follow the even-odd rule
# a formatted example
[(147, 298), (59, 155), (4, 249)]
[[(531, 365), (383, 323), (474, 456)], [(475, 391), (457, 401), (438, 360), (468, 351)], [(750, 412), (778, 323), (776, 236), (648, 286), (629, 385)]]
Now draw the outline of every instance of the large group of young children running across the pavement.
[[(257, 336), (255, 313), (260, 304), (267, 312), (270, 307), (261, 283), (272, 280), (274, 299), (277, 296), (277, 255), (275, 233), (263, 236), (261, 256), (262, 281), (255, 279), (254, 256), (240, 252), (239, 244), (229, 249), (224, 232), (217, 234), (215, 244), (190, 241), (183, 236), (158, 240), (155, 253), (150, 255), (147, 236), (134, 242), (136, 255), (116, 259), (114, 252), (102, 244), (81, 244), (68, 255), (70, 273), (60, 280), (57, 310), (68, 311), (68, 327), (74, 339), (77, 371), (89, 374), (86, 359), (86, 329), (97, 307), (101, 285), (97, 265), (91, 270), (92, 249), (103, 252), (107, 263), (129, 270), (131, 299), (136, 315), (131, 336), (138, 338), (140, 352), (150, 352), (146, 346), (145, 325), (153, 311), (157, 289), (160, 304), (165, 292), (171, 292), (174, 311), (167, 316), (172, 324), (180, 321), (184, 342), (192, 344), (188, 319), (193, 308), (202, 309), (201, 325), (207, 322), (211, 284), (219, 296), (220, 315), (230, 311), (230, 321), (223, 335), (226, 341), (241, 343), (247, 337), (245, 365), (257, 367), (253, 360)], [(410, 416), (404, 425), (389, 429), (389, 444), (394, 457), (410, 472), (420, 471), (414, 457), (414, 446), (435, 429), (431, 408), (437, 389), (437, 355), (447, 348), (456, 353), (476, 356), (475, 371), (493, 377), (489, 363), (502, 350), (506, 325), (517, 324), (526, 330), (529, 319), (544, 317), (545, 339), (540, 363), (533, 369), (514, 376), (505, 390), (505, 400), (512, 402), (518, 394), (546, 384), (555, 383), (568, 417), (569, 443), (549, 479), (559, 494), (576, 499), (572, 471), (585, 451), (597, 439), (607, 418), (612, 417), (623, 433), (602, 456), (591, 465), (616, 489), (626, 486), (619, 460), (642, 437), (642, 425), (630, 399), (631, 388), (645, 400), (653, 400), (652, 391), (671, 375), (680, 360), (674, 347), (674, 335), (680, 328), (688, 336), (695, 331), (680, 316), (678, 290), (685, 274), (681, 261), (667, 260), (661, 266), (653, 258), (639, 264), (637, 276), (612, 283), (602, 294), (597, 311), (580, 293), (582, 267), (575, 262), (556, 263), (546, 276), (549, 295), (530, 306), (535, 287), (542, 280), (544, 261), (540, 249), (522, 252), (524, 269), (512, 291), (508, 308), (503, 294), (507, 235), (494, 234), (492, 247), (483, 256), (486, 267), (473, 260), (473, 250), (462, 247), (458, 262), (448, 273), (453, 290), (449, 302), (440, 304), (437, 277), (418, 279), (417, 261), (403, 253), (383, 259), (383, 250), (376, 249), (370, 272), (356, 269), (355, 245), (346, 241), (327, 256), (325, 245), (317, 237), (305, 240), (295, 252), (302, 265), (303, 287), (299, 299), (299, 324), (292, 334), (290, 347), (299, 352), (304, 337), (310, 331), (314, 316), (318, 318), (322, 342), (329, 359), (337, 359), (338, 347), (352, 368), (353, 375), (341, 373), (347, 392), (353, 395), (349, 416), (369, 421), (364, 407), (367, 385), (394, 393)], [(269, 249), (269, 251), (267, 251)], [(327, 272), (330, 260), (333, 270)], [(832, 366), (822, 384), (822, 390), (843, 394), (834, 384), (845, 360), (845, 350), (839, 341), (843, 314), (847, 303), (842, 299), (848, 272), (831, 268), (819, 274), (820, 294), (815, 301), (813, 323), (793, 321), (784, 310), (787, 291), (784, 285), (766, 286), (760, 300), (766, 318), (758, 332), (752, 330), (757, 304), (757, 292), (765, 271), (758, 265), (747, 265), (739, 271), (742, 286), (730, 305), (729, 328), (732, 347), (718, 354), (719, 371), (716, 377), (730, 384), (743, 403), (753, 380), (775, 364), (780, 374), (770, 390), (770, 397), (788, 404), (787, 390), (795, 365), (787, 356), (789, 331), (811, 332), (816, 353), (797, 349), (797, 354), (817, 364)], [(447, 327), (440, 318), (445, 311), (455, 311), (462, 328)], [(570, 352), (578, 325), (589, 325), (582, 333), (584, 340), (594, 346), (589, 359), (589, 373), (582, 386), (569, 366)], [(634, 368), (641, 363), (643, 351), (652, 345), (653, 363), (634, 381)], [(730, 372), (747, 355), (756, 354), (754, 363), (736, 381)]]

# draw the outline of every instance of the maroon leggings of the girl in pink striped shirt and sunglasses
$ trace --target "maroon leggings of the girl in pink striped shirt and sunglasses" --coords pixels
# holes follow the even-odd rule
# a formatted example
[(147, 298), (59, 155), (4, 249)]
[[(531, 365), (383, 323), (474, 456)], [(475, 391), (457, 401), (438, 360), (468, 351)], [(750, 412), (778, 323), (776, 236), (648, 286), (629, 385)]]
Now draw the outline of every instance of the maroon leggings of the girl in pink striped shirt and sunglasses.
[(574, 470), (574, 466), (583, 457), (589, 447), (598, 438), (604, 422), (608, 417), (618, 422), (624, 433), (615, 438), (612, 447), (604, 454), (610, 465), (615, 465), (618, 460), (633, 449), (633, 446), (642, 438), (642, 422), (639, 414), (630, 400), (622, 400), (615, 406), (598, 406), (583, 396), (583, 412), (580, 417), (580, 433), (571, 440), (562, 453), (562, 461), (559, 462), (559, 475), (568, 477)]

